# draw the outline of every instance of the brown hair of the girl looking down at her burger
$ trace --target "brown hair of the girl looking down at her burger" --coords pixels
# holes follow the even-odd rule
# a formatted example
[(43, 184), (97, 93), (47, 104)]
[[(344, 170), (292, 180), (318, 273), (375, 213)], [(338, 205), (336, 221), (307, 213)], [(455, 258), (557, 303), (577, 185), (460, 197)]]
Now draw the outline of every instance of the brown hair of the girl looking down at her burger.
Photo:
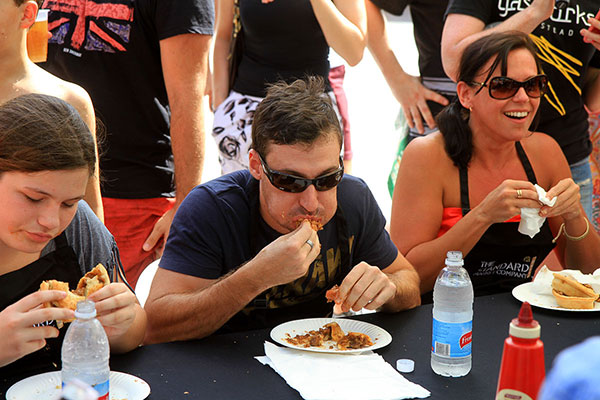
[(0, 173), (88, 168), (94, 137), (75, 108), (56, 97), (26, 94), (0, 105)]

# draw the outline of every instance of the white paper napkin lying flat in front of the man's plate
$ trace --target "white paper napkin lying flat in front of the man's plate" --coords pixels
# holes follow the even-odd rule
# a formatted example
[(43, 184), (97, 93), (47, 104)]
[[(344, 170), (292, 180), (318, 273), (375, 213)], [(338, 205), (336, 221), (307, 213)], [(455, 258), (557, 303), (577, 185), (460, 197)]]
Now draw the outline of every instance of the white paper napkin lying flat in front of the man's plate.
[(265, 354), (256, 359), (271, 366), (306, 400), (395, 400), (430, 396), (428, 390), (404, 378), (372, 351), (315, 353), (265, 342)]

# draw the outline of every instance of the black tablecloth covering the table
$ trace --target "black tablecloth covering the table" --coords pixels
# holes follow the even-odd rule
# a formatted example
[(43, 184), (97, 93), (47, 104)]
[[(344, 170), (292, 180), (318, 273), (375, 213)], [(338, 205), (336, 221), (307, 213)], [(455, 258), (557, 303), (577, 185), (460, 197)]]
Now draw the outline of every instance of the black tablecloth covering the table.
[[(391, 333), (393, 340), (377, 350), (387, 362), (399, 358), (415, 361), (409, 380), (431, 392), (431, 399), (493, 399), (502, 346), (508, 324), (519, 312), (520, 302), (510, 294), (475, 299), (473, 320), (473, 368), (462, 378), (433, 373), (431, 354), (431, 305), (397, 314), (354, 317), (374, 323)], [(534, 308), (542, 326), (546, 370), (564, 348), (600, 334), (600, 313), (565, 312)], [(215, 335), (202, 340), (150, 345), (111, 357), (111, 369), (127, 372), (148, 382), (149, 399), (300, 399), (300, 395), (270, 367), (254, 356), (264, 355), (269, 330)], [(4, 386), (3, 386), (4, 385)], [(7, 383), (0, 380), (0, 392)]]

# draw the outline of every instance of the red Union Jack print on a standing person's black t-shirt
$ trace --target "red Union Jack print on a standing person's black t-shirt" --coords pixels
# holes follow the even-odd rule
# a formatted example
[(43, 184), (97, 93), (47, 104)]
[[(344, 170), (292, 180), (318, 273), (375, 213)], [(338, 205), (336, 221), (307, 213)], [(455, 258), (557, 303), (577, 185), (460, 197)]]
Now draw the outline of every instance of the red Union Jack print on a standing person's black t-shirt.
[(45, 0), (43, 8), (52, 10), (49, 43), (63, 45), (63, 51), (75, 56), (81, 56), (83, 50), (127, 51), (132, 0)]

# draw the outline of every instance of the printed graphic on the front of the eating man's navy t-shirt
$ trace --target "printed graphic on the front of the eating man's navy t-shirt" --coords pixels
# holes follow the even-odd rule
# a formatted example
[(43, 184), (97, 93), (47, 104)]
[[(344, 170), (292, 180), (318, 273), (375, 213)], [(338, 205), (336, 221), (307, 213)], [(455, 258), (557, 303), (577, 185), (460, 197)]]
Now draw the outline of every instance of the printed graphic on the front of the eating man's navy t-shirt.
[[(350, 237), (348, 251), (352, 251), (354, 236)], [(339, 276), (341, 271), (341, 251), (337, 247), (330, 248), (325, 252), (326, 259), (322, 255), (311, 264), (306, 276), (296, 279), (287, 285), (280, 285), (271, 288), (267, 292), (267, 308), (280, 308), (292, 306), (307, 300), (307, 295), (321, 293), (333, 284), (334, 279)]]

